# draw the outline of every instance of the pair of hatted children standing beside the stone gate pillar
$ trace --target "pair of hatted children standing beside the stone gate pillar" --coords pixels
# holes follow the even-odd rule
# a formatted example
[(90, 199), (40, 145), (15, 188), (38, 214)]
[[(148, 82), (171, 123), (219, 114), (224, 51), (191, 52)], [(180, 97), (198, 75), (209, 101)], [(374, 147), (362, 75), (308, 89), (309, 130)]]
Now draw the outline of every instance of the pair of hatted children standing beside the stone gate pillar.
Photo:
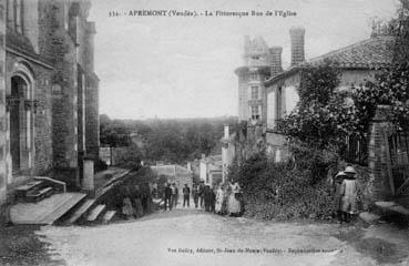
[(334, 204), (340, 223), (349, 223), (357, 212), (358, 183), (352, 166), (338, 172), (333, 178)]

